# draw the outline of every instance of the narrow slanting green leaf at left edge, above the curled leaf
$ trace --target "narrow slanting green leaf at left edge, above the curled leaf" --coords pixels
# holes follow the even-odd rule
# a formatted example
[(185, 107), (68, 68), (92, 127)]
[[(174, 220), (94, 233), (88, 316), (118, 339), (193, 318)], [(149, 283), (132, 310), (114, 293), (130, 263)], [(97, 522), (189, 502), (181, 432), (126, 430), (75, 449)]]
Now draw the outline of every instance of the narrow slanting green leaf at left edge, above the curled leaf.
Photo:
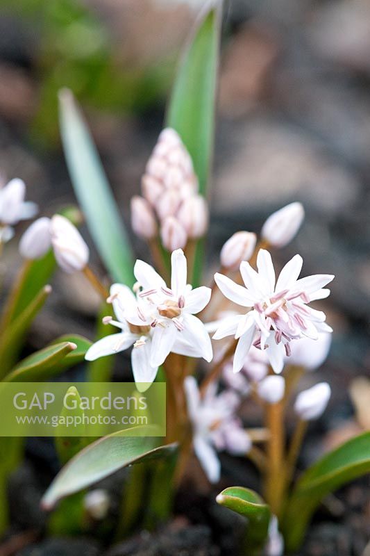
[(44, 286), (24, 311), (3, 330), (0, 338), (1, 376), (6, 375), (14, 365), (24, 336), (50, 293), (51, 287)]

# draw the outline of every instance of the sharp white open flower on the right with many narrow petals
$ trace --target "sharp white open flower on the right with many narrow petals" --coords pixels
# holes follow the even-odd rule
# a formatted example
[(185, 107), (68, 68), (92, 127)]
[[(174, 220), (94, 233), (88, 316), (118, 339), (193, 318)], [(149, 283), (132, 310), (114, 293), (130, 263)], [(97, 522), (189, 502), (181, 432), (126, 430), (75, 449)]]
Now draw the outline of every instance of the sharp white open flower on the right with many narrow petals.
[(276, 281), (271, 255), (260, 250), (258, 272), (243, 261), (240, 272), (245, 287), (217, 273), (215, 281), (221, 292), (231, 301), (249, 308), (247, 313), (229, 317), (221, 323), (215, 339), (235, 336), (238, 340), (233, 370), (238, 373), (253, 343), (266, 350), (275, 373), (281, 373), (285, 355), (290, 353), (290, 342), (308, 337), (317, 340), (320, 332), (332, 332), (326, 316), (308, 306), (313, 300), (328, 297), (322, 289), (333, 275), (313, 275), (298, 279), (303, 259), (296, 255), (289, 261)]

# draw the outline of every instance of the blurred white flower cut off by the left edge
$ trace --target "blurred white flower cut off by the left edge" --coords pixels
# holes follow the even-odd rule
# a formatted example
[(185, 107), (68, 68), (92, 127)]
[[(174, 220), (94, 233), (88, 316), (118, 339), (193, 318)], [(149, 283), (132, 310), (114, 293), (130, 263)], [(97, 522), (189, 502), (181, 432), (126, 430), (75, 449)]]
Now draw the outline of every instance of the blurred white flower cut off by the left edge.
[(0, 188), (0, 240), (2, 243), (12, 238), (19, 220), (28, 220), (37, 214), (37, 204), (25, 201), (26, 186), (22, 179), (12, 179)]

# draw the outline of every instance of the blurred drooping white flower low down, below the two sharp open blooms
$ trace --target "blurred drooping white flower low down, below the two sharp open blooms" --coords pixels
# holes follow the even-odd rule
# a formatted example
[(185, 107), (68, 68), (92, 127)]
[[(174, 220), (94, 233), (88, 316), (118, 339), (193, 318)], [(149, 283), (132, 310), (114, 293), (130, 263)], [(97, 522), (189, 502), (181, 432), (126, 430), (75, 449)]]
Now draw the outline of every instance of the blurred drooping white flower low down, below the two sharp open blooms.
[(219, 395), (216, 395), (216, 391), (217, 384), (210, 384), (202, 399), (194, 377), (185, 379), (194, 452), (210, 482), (217, 482), (221, 473), (217, 451), (246, 455), (252, 445), (249, 434), (235, 418), (239, 398), (230, 391)]

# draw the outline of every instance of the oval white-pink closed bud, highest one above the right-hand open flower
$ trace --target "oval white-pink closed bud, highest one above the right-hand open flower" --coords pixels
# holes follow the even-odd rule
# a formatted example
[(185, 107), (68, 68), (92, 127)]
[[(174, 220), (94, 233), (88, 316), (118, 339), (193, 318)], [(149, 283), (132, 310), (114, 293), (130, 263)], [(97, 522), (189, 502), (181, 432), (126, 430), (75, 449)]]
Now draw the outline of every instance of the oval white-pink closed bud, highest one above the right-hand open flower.
[(262, 227), (262, 238), (273, 247), (285, 247), (296, 235), (305, 218), (301, 203), (290, 203), (272, 213)]

